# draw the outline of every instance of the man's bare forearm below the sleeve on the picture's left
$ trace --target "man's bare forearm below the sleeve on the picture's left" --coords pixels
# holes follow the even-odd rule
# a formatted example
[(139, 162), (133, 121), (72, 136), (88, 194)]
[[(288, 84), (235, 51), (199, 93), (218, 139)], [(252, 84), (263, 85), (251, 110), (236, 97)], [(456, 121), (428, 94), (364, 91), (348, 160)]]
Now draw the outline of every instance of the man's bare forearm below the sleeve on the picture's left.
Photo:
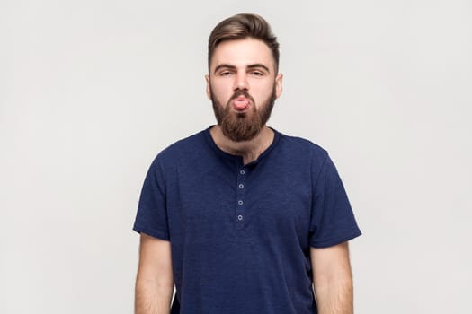
[(171, 243), (141, 233), (135, 313), (169, 314), (173, 293)]

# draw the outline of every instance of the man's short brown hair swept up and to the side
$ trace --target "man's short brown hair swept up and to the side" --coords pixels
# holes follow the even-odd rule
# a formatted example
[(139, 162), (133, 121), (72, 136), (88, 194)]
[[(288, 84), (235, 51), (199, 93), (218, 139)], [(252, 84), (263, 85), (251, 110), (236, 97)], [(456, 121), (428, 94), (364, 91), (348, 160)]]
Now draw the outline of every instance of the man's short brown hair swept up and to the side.
[(272, 51), (275, 73), (279, 71), (279, 42), (272, 34), (271, 25), (257, 14), (236, 14), (218, 23), (209, 35), (208, 63), (215, 48), (226, 40), (253, 38), (262, 40)]

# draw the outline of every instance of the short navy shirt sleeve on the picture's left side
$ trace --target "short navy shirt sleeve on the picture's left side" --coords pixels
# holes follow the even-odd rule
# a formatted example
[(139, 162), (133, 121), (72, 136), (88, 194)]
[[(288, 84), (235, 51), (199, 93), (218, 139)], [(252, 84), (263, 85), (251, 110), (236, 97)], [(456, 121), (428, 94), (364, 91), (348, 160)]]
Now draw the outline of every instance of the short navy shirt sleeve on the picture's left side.
[(144, 180), (133, 230), (162, 240), (170, 240), (165, 199), (164, 176), (156, 158)]

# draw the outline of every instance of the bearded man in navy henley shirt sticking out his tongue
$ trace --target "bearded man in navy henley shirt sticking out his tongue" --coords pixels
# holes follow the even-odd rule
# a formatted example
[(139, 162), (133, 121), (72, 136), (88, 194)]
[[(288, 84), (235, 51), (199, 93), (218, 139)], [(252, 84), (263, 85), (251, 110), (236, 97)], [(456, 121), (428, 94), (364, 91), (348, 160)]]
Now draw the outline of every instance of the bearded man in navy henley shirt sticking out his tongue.
[(282, 91), (269, 24), (220, 22), (208, 62), (218, 125), (159, 153), (141, 193), (136, 313), (352, 313), (361, 232), (341, 179), (322, 148), (266, 126)]

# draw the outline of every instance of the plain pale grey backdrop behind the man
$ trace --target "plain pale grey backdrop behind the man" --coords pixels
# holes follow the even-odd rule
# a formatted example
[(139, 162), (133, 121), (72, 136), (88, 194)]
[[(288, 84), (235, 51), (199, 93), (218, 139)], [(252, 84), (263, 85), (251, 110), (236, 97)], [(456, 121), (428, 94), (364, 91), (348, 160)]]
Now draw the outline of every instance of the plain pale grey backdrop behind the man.
[(209, 32), (281, 43), (270, 126), (328, 150), (357, 313), (472, 312), (472, 4), (0, 1), (0, 312), (131, 313), (150, 162), (214, 123)]

